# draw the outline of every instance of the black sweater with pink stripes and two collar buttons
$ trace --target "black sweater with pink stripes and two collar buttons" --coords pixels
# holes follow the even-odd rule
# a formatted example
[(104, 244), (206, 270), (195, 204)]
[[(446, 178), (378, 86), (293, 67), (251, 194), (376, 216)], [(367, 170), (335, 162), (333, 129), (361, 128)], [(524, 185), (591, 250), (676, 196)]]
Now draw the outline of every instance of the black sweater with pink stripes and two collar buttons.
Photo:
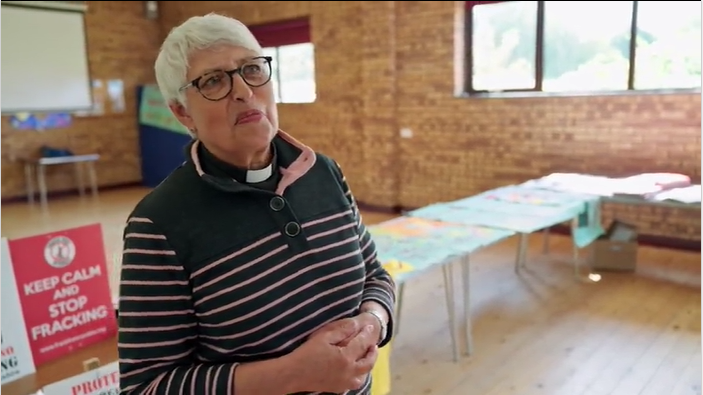
[[(381, 267), (339, 166), (279, 132), (275, 191), (188, 160), (132, 211), (119, 305), (122, 394), (234, 395), (239, 364), (277, 358), (376, 301)], [(388, 335), (380, 346), (390, 341)], [(370, 378), (361, 390), (366, 395)]]

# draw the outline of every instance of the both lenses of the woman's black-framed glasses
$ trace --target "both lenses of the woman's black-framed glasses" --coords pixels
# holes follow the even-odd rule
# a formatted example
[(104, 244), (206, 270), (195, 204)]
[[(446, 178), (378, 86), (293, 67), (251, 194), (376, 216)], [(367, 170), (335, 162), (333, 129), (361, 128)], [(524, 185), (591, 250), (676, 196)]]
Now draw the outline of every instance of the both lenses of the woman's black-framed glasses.
[[(242, 65), (239, 75), (251, 87), (262, 86), (271, 78), (271, 64), (266, 59), (254, 59)], [(234, 75), (230, 77), (221, 70), (204, 74), (198, 82), (198, 90), (207, 99), (222, 99), (229, 95), (233, 78)]]

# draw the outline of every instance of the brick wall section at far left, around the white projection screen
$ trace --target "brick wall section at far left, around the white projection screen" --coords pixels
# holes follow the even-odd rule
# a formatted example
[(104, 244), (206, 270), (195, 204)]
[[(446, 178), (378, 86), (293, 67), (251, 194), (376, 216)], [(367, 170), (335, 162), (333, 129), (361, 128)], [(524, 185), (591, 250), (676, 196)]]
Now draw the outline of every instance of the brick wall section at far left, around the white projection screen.
[[(100, 153), (100, 184), (119, 185), (141, 179), (136, 123), (136, 86), (154, 81), (153, 64), (160, 44), (157, 21), (144, 18), (143, 2), (89, 1), (86, 14), (89, 68), (96, 79), (122, 79), (126, 112), (75, 118), (71, 127), (46, 132), (14, 130), (2, 118), (2, 198), (25, 195), (22, 166), (13, 155), (28, 155), (41, 145), (68, 147), (76, 153)], [(50, 191), (75, 189), (73, 171), (50, 168)]]

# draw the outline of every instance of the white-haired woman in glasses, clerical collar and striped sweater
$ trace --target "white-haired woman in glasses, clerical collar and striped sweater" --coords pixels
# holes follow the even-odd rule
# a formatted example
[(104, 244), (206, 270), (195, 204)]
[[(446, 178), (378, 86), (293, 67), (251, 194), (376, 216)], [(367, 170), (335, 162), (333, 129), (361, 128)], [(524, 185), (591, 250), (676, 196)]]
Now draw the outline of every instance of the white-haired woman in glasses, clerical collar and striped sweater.
[(337, 163), (279, 130), (262, 53), (242, 23), (209, 14), (158, 55), (159, 88), (194, 138), (127, 221), (122, 394), (370, 391), (394, 284)]

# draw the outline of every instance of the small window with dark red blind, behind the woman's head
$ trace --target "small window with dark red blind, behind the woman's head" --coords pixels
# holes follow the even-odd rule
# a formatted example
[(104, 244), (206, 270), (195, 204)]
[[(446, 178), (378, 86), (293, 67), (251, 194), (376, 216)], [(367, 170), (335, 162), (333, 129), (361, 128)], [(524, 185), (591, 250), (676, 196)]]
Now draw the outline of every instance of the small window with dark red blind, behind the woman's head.
[(273, 58), (271, 82), (276, 102), (314, 102), (315, 50), (308, 19), (251, 26), (250, 29), (264, 47), (264, 54)]

